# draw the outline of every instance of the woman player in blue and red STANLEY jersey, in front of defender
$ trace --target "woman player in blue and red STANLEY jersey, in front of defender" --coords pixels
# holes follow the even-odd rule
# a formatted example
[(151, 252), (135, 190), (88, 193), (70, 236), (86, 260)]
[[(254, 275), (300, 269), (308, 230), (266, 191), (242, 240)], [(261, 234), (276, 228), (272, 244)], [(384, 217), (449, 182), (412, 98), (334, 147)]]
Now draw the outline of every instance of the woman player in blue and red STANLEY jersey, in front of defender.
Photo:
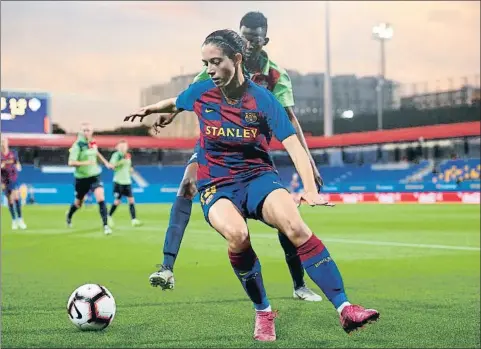
[(281, 184), (268, 152), (272, 134), (282, 142), (302, 179), (302, 199), (311, 206), (326, 204), (317, 192), (308, 155), (285, 110), (271, 92), (246, 77), (243, 57), (244, 41), (235, 31), (213, 32), (202, 45), (202, 61), (211, 80), (194, 83), (177, 98), (130, 116), (190, 110), (199, 117), (197, 179), (202, 209), (206, 221), (227, 240), (231, 265), (254, 303), (255, 339), (276, 339), (276, 316), (251, 246), (247, 218), (261, 220), (288, 237), (307, 274), (339, 312), (346, 332), (376, 321), (376, 310), (348, 302), (333, 258), (304, 223)]

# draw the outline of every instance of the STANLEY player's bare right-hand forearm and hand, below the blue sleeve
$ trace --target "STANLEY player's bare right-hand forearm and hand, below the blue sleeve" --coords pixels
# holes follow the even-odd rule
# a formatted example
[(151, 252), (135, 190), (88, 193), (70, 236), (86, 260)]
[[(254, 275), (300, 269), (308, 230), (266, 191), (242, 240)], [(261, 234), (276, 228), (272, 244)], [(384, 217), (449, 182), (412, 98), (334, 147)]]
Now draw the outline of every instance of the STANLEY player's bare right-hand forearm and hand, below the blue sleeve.
[(319, 196), (309, 156), (307, 155), (306, 150), (302, 147), (301, 142), (299, 142), (299, 139), (294, 135), (289, 136), (282, 141), (282, 145), (289, 153), (289, 156), (302, 179), (302, 183), (304, 184), (305, 192), (302, 194), (302, 198), (311, 206), (333, 206)]

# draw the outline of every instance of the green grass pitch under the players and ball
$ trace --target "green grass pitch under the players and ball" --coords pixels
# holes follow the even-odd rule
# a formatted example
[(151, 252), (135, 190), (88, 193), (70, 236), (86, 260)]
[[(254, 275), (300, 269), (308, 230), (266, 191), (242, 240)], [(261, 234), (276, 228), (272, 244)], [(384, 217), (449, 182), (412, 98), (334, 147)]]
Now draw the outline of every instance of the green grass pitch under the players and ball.
[[(225, 241), (195, 204), (175, 268), (176, 288), (152, 288), (170, 205), (128, 206), (104, 236), (96, 205), (65, 227), (65, 206), (24, 208), (27, 231), (11, 231), (2, 208), (2, 347), (480, 347), (479, 205), (339, 205), (302, 208), (344, 277), (351, 302), (378, 323), (348, 336), (324, 299), (292, 298), (276, 233), (250, 223), (274, 309), (278, 340), (252, 339), (253, 309), (231, 270)], [(103, 332), (79, 332), (66, 302), (85, 283), (106, 286), (117, 315)], [(318, 290), (308, 280), (308, 285)]]

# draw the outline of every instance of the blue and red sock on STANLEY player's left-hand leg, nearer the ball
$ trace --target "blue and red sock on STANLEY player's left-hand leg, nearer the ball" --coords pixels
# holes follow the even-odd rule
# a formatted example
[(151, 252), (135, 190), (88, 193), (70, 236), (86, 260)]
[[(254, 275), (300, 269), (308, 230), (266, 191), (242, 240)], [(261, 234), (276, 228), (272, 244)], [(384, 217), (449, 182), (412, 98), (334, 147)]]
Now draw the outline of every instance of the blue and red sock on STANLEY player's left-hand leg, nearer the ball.
[(235, 274), (244, 287), (250, 300), (257, 311), (269, 311), (270, 304), (267, 299), (264, 282), (262, 280), (261, 264), (252, 246), (239, 253), (228, 251), (229, 260)]

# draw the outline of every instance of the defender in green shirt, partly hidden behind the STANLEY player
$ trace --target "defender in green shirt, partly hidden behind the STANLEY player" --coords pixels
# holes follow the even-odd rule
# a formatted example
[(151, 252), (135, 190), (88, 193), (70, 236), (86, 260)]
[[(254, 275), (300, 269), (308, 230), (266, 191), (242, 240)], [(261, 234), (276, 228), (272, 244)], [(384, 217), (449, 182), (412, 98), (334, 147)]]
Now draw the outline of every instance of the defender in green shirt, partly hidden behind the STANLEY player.
[[(251, 79), (272, 91), (277, 100), (285, 108), (289, 119), (296, 130), (297, 137), (304, 149), (306, 149), (313, 174), (318, 186), (322, 186), (322, 178), (307, 146), (302, 128), (294, 114), (294, 97), (292, 84), (287, 72), (271, 61), (263, 47), (269, 42), (267, 37), (267, 18), (260, 12), (249, 12), (240, 21), (241, 36), (247, 42), (246, 67)], [(208, 80), (209, 74), (204, 69), (195, 78), (194, 82)], [(160, 270), (151, 275), (151, 282), (154, 286), (163, 289), (174, 287), (173, 268), (177, 258), (180, 244), (187, 228), (192, 210), (192, 199), (197, 194), (195, 183), (197, 180), (197, 151), (190, 159), (185, 169), (184, 178), (181, 181), (176, 201), (171, 212), (169, 227), (165, 234), (164, 261)], [(293, 295), (295, 298), (307, 301), (321, 301), (322, 298), (306, 287), (304, 281), (304, 269), (297, 256), (295, 247), (284, 234), (278, 232), (279, 241), (285, 253), (285, 258), (294, 284)]]

